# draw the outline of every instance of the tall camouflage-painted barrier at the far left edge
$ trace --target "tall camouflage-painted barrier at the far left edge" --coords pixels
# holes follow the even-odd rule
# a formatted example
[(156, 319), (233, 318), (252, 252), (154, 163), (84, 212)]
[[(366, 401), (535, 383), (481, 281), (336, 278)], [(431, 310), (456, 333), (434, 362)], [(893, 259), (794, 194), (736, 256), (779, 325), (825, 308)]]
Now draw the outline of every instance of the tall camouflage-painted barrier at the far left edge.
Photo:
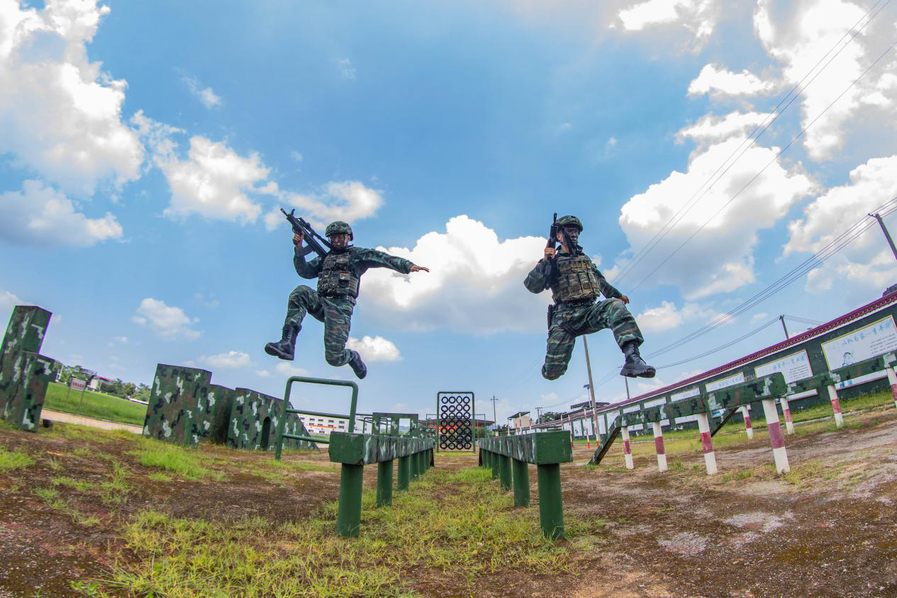
[(52, 314), (37, 306), (16, 306), (0, 345), (0, 418), (21, 429), (40, 421), (54, 360), (39, 354)]

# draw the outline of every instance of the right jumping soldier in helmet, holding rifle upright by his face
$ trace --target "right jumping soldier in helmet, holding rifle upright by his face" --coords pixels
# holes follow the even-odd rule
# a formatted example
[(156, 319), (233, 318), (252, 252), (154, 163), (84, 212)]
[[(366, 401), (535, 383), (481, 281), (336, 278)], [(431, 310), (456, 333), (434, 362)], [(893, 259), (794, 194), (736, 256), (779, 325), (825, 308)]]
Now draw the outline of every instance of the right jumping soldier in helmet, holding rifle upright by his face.
[[(576, 337), (610, 328), (626, 357), (620, 375), (654, 377), (655, 369), (639, 355), (644, 338), (626, 308), (629, 298), (605, 280), (577, 244), (582, 222), (575, 216), (563, 216), (557, 224), (562, 247), (558, 251), (545, 247), (544, 258), (524, 281), (530, 292), (551, 289), (555, 303), (542, 375), (549, 380), (561, 377), (567, 371)], [(596, 302), (599, 293), (607, 299)]]

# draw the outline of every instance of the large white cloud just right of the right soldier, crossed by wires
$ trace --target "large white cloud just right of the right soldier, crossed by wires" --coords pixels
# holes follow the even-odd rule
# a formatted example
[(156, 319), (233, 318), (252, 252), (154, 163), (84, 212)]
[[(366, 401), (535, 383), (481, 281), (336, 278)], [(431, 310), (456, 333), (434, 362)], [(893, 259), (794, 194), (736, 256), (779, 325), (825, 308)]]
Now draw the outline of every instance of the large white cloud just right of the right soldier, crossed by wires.
[[(753, 147), (727, 170), (706, 193), (696, 192), (725, 163), (744, 141), (736, 136), (692, 153), (686, 172), (673, 171), (669, 177), (623, 205), (620, 225), (633, 250), (639, 250), (664, 229), (692, 197), (700, 197), (678, 224), (646, 259), (627, 273), (623, 282), (615, 280), (620, 262), (608, 272), (614, 286), (626, 292), (626, 285), (649, 276), (651, 284), (673, 284), (686, 299), (700, 299), (736, 290), (753, 282), (753, 246), (757, 232), (773, 226), (799, 199), (814, 191), (814, 181), (800, 169), (786, 169), (775, 159), (776, 148)], [(762, 175), (745, 187), (754, 176)], [(744, 191), (741, 191), (742, 188)], [(736, 196), (736, 194), (739, 194)], [(734, 201), (723, 207), (730, 199)], [(711, 215), (712, 220), (654, 273), (660, 260), (692, 236)]]

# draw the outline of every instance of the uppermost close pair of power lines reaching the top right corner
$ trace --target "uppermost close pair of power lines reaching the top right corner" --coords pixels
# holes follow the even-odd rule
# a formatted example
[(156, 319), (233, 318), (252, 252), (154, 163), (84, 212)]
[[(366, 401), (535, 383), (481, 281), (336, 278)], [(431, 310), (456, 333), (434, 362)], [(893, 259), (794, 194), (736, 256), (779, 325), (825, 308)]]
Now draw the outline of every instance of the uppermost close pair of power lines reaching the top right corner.
[[(884, 8), (885, 8), (888, 4), (890, 4), (890, 2), (891, 2), (891, 0), (886, 0), (886, 2), (882, 5), (882, 7), (879, 8), (878, 11), (877, 11), (874, 15), (872, 15), (872, 17), (871, 17), (871, 18), (870, 18), (870, 19), (869, 19), (869, 20), (868, 20), (862, 27), (860, 27), (858, 30), (856, 30), (856, 31), (853, 33), (852, 36), (850, 36), (850, 39), (847, 41), (847, 43), (845, 43), (845, 44), (838, 50), (838, 52), (836, 52), (835, 55), (832, 56), (832, 58), (830, 58), (829, 61), (828, 61), (827, 63), (825, 63), (825, 65), (823, 65), (823, 67), (822, 67), (821, 69), (819, 69), (819, 71), (816, 72), (816, 74), (813, 75), (813, 78), (812, 78), (809, 82), (807, 82), (806, 85), (804, 85), (804, 88), (803, 88), (801, 91), (795, 93), (795, 91), (797, 91), (797, 89), (800, 88), (800, 86), (806, 81), (806, 78), (807, 78), (808, 76), (810, 76), (810, 74), (812, 74), (812, 73), (814, 72), (814, 70), (816, 69), (816, 67), (819, 66), (820, 64), (822, 64), (823, 60), (825, 60), (825, 58), (826, 58), (827, 56), (829, 56), (829, 55), (832, 53), (832, 50), (834, 50), (834, 48), (837, 48), (838, 45), (841, 43), (841, 41), (843, 41), (843, 40), (849, 35), (850, 31), (854, 30), (860, 22), (862, 22), (864, 19), (866, 19), (866, 17), (868, 16), (868, 14), (871, 13), (873, 10), (875, 10), (875, 6), (876, 6), (877, 4), (879, 4), (881, 1), (882, 1), (882, 0), (876, 0), (875, 4), (873, 4), (872, 7), (869, 8), (869, 10), (867, 11), (867, 13), (865, 13), (862, 17), (860, 17), (859, 20), (858, 20), (857, 22), (855, 22), (855, 23), (853, 24), (853, 26), (850, 27), (849, 30), (845, 31), (844, 35), (842, 35), (841, 38), (838, 39), (838, 41), (836, 41), (836, 42), (834, 43), (834, 45), (832, 46), (832, 48), (829, 48), (829, 51), (826, 52), (825, 55), (823, 55), (823, 57), (821, 57), (821, 58), (816, 62), (816, 64), (813, 65), (813, 67), (812, 67), (809, 71), (806, 72), (806, 74), (801, 78), (801, 80), (800, 80), (799, 82), (797, 82), (797, 84), (791, 89), (791, 91), (788, 91), (788, 93), (785, 95), (785, 97), (782, 98), (782, 100), (779, 101), (779, 104), (778, 104), (775, 108), (772, 109), (772, 112), (771, 112), (770, 114), (768, 114), (766, 118), (763, 119), (763, 122), (762, 122), (761, 124), (755, 126), (755, 127), (753, 128), (753, 131), (752, 131), (750, 134), (747, 135), (747, 137), (745, 138), (745, 140), (742, 141), (741, 144), (739, 144), (739, 146), (736, 148), (736, 150), (735, 150), (734, 152), (732, 152), (731, 154), (729, 154), (729, 156), (727, 157), (727, 159), (726, 159), (726, 160), (723, 160), (723, 163), (720, 164), (720, 165), (717, 167), (717, 169), (714, 170), (714, 172), (713, 172), (712, 174), (710, 174), (710, 177), (708, 177), (708, 178), (704, 181), (704, 183), (701, 184), (700, 187), (698, 187), (698, 189), (694, 192), (694, 194), (692, 194), (692, 197), (689, 199), (689, 201), (686, 202), (685, 204), (683, 204), (683, 205), (679, 208), (679, 210), (676, 211), (675, 214), (673, 214), (673, 216), (669, 219), (669, 221), (666, 221), (666, 224), (661, 228), (661, 230), (658, 230), (658, 232), (655, 233), (654, 237), (651, 238), (651, 240), (648, 242), (648, 244), (647, 244), (646, 246), (642, 247), (642, 248), (640, 249), (640, 251), (639, 251), (635, 256), (632, 257), (632, 259), (630, 260), (629, 263), (623, 265), (623, 268), (622, 268), (621, 272), (620, 272), (619, 274), (617, 274), (617, 276), (616, 276), (615, 279), (614, 279), (614, 284), (619, 284), (619, 282), (622, 282), (623, 279), (624, 279), (628, 274), (630, 274), (630, 273), (634, 270), (635, 266), (636, 266), (637, 264), (639, 264), (639, 263), (641, 262), (641, 260), (644, 259), (644, 257), (647, 256), (647, 255), (649, 254), (649, 252), (650, 252), (654, 247), (657, 247), (657, 245), (660, 243), (660, 241), (662, 241), (664, 238), (666, 238), (666, 235), (667, 235), (671, 230), (673, 230), (673, 229), (675, 228), (675, 226), (676, 226), (680, 221), (682, 221), (682, 219), (684, 218), (685, 214), (687, 214), (688, 212), (690, 212), (690, 211), (692, 210), (692, 207), (694, 207), (694, 205), (697, 204), (697, 202), (701, 200), (701, 197), (703, 197), (703, 195), (705, 195), (705, 194), (707, 193), (707, 191), (710, 190), (710, 188), (712, 187), (712, 184), (711, 184), (710, 186), (708, 186), (708, 183), (710, 183), (710, 179), (714, 178), (714, 177), (717, 175), (717, 173), (719, 172), (719, 170), (722, 169), (724, 166), (726, 166), (726, 164), (727, 164), (727, 162), (729, 162), (729, 160), (732, 160), (732, 157), (735, 156), (736, 153), (741, 152), (741, 153), (738, 153), (738, 155), (737, 155), (737, 157), (735, 158), (735, 160), (732, 160), (731, 163), (728, 164), (728, 166), (726, 167), (726, 169), (723, 170), (723, 172), (721, 172), (721, 173), (719, 174), (719, 177), (714, 181), (714, 183), (718, 182), (718, 180), (719, 180), (720, 178), (722, 178), (723, 175), (725, 175), (725, 174), (727, 173), (727, 171), (728, 171), (729, 169), (732, 168), (732, 166), (735, 165), (736, 161), (739, 160), (739, 159), (745, 154), (745, 152), (747, 152), (749, 149), (751, 149), (751, 147), (753, 147), (753, 145), (756, 143), (757, 139), (759, 139), (760, 136), (761, 136), (763, 133), (765, 133), (766, 130), (769, 129), (770, 126), (772, 126), (772, 123), (774, 123), (776, 120), (779, 119), (779, 117), (785, 112), (785, 110), (787, 110), (788, 107), (791, 106), (791, 104), (794, 102), (794, 100), (797, 100), (797, 97), (800, 96), (801, 93), (803, 93), (804, 91), (806, 91), (806, 88), (809, 87), (810, 84), (811, 84), (812, 82), (814, 82), (814, 80), (816, 79), (816, 77), (819, 76), (819, 74), (821, 74), (821, 73), (823, 72), (823, 70), (825, 70), (825, 68), (826, 68), (828, 65), (832, 64), (832, 61), (833, 61), (836, 57), (838, 57), (838, 55), (840, 55), (841, 51), (843, 51), (844, 48), (847, 48), (847, 46), (849, 45), (849, 43), (850, 43), (851, 41), (853, 41), (853, 39), (856, 39), (856, 37), (858, 36), (858, 34), (859, 34), (862, 30), (866, 29), (867, 25), (868, 25), (870, 22), (872, 22), (872, 21), (875, 19), (875, 17), (878, 16), (878, 14), (881, 13), (881, 12), (884, 10)], [(792, 94), (794, 94), (794, 96), (791, 97), (790, 100), (788, 100), (788, 98), (789, 98), (790, 96), (792, 96)], [(782, 105), (786, 100), (788, 100), (788, 104), (785, 106), (785, 108), (782, 108), (782, 110), (779, 111), (779, 108), (781, 107), (781, 105)], [(770, 117), (772, 117), (772, 115), (775, 115), (775, 117), (773, 117), (772, 120), (771, 120), (769, 123), (767, 123), (766, 121), (767, 121)], [(760, 133), (759, 133), (759, 134), (756, 134), (756, 136), (754, 137), (754, 134), (757, 133), (758, 129), (760, 129), (761, 127), (762, 127), (762, 130), (760, 131)], [(752, 141), (752, 138), (753, 138), (753, 141)], [(748, 141), (750, 141), (751, 143), (750, 143), (747, 147), (745, 147), (745, 143), (747, 143)], [(742, 148), (744, 148), (744, 150), (742, 150)], [(704, 189), (703, 193), (701, 193), (701, 189)], [(698, 195), (699, 193), (700, 193), (701, 195), (699, 195), (697, 198), (695, 198), (695, 195)], [(693, 201), (692, 201), (692, 200), (693, 200)], [(683, 212), (683, 211), (684, 211), (684, 212)], [(682, 214), (682, 215), (680, 216), (680, 214)], [(675, 222), (674, 222), (674, 221), (675, 221)], [(672, 224), (671, 224), (671, 223), (672, 223)]]

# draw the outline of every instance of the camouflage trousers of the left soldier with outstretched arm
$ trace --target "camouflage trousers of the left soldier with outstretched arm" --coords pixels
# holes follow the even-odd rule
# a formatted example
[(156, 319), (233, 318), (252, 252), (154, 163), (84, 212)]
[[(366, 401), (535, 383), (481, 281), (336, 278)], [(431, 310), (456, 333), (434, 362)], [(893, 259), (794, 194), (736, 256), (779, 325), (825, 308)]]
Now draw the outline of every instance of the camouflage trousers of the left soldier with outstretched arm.
[(344, 366), (352, 360), (353, 353), (345, 348), (352, 327), (352, 299), (331, 299), (321, 297), (318, 291), (304, 284), (290, 293), (286, 308), (286, 325), (302, 328), (302, 318), (309, 313), (318, 322), (324, 323), (324, 359), (331, 366)]

